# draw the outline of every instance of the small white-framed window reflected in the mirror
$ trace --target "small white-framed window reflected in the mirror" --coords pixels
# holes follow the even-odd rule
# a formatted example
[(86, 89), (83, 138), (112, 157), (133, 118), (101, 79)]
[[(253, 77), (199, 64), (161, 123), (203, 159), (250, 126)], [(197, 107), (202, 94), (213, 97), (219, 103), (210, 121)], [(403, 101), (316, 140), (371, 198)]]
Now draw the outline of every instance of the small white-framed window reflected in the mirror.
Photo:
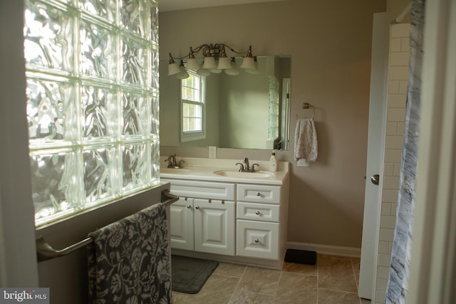
[(189, 71), (181, 83), (181, 141), (202, 140), (204, 132), (205, 78)]

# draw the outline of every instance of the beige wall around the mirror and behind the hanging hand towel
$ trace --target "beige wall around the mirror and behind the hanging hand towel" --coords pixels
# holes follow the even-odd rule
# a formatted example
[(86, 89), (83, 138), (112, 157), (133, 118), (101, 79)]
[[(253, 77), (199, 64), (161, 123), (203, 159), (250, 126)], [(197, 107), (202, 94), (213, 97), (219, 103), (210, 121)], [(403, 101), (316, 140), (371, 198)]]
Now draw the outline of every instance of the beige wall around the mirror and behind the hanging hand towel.
[[(160, 59), (227, 43), (257, 55), (291, 54), (291, 137), (302, 103), (316, 108), (319, 154), (296, 167), (292, 150), (288, 241), (361, 248), (372, 21), (385, 0), (291, 0), (160, 13)], [(207, 148), (162, 147), (207, 157)], [(269, 159), (270, 151), (218, 149), (217, 157)]]

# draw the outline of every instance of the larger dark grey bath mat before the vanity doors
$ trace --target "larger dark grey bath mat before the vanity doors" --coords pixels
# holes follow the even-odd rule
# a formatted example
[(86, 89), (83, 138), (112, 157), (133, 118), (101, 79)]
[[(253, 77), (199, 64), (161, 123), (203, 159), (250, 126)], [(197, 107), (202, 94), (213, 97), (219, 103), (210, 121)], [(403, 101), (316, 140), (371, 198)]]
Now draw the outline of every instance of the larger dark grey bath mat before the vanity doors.
[(217, 266), (219, 266), (217, 261), (173, 254), (171, 256), (172, 290), (180, 293), (198, 293)]

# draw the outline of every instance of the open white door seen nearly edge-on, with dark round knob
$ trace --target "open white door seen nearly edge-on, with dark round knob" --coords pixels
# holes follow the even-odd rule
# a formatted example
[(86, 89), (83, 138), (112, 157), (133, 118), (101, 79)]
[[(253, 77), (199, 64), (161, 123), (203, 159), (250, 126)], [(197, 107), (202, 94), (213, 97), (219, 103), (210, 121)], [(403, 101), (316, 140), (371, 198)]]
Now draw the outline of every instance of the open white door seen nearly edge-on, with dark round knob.
[(369, 102), (368, 163), (366, 167), (363, 243), (361, 246), (361, 269), (358, 286), (359, 296), (367, 299), (373, 298), (377, 268), (383, 156), (385, 152), (388, 29), (386, 13), (374, 14), (371, 99)]

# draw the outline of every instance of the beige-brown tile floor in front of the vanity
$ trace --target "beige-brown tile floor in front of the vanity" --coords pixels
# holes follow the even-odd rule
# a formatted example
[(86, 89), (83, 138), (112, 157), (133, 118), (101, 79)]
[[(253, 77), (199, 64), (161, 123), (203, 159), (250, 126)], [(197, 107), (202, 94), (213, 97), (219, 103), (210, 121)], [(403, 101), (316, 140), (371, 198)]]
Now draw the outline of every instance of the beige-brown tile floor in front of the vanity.
[(285, 263), (272, 270), (219, 263), (199, 293), (172, 292), (180, 303), (367, 304), (358, 298), (359, 258), (318, 254), (316, 265)]

